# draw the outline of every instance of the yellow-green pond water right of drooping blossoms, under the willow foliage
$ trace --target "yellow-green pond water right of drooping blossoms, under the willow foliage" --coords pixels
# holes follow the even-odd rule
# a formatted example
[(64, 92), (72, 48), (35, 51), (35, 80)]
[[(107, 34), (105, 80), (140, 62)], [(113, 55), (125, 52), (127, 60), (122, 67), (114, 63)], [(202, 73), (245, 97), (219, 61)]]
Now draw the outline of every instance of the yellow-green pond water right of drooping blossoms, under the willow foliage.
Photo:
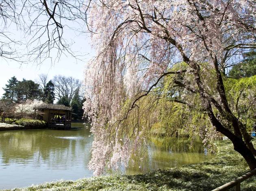
[[(176, 167), (189, 163), (199, 163), (213, 156), (205, 155), (200, 140), (191, 141), (185, 138), (152, 138), (148, 146), (144, 145), (141, 155), (132, 157), (126, 170), (119, 173), (137, 174), (158, 168)], [(142, 159), (143, 158), (143, 159)]]

